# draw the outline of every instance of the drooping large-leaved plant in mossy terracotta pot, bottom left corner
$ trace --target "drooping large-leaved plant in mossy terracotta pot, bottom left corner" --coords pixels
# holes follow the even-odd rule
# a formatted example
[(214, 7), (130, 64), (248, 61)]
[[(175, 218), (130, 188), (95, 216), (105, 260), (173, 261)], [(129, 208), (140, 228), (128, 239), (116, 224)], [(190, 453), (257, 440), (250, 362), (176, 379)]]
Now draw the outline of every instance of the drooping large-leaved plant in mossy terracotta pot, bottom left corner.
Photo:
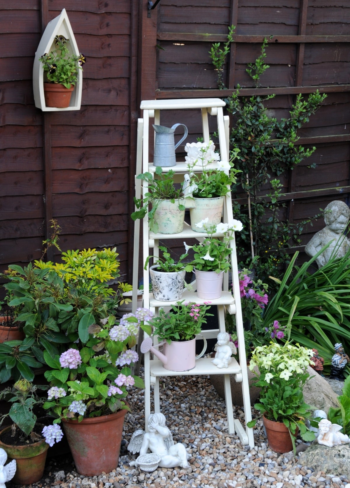
[(48, 447), (61, 441), (63, 436), (60, 426), (43, 426), (37, 421), (34, 409), (45, 401), (37, 395), (38, 388), (47, 390), (48, 386), (34, 386), (21, 379), (0, 393), (1, 399), (11, 402), (9, 413), (1, 416), (0, 423), (7, 416), (14, 422), (1, 430), (0, 447), (9, 458), (16, 459), (17, 470), (13, 481), (18, 485), (29, 485), (41, 479)]

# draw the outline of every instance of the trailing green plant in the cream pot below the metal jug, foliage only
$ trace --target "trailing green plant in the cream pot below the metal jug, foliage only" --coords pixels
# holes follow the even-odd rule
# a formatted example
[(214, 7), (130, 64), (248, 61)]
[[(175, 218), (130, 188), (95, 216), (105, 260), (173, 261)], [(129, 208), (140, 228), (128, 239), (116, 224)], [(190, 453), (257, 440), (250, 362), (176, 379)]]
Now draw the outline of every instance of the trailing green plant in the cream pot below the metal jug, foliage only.
[[(172, 203), (178, 202), (180, 210), (185, 210), (184, 200), (181, 197), (182, 187), (175, 188), (174, 175), (175, 172), (170, 169), (167, 173), (163, 173), (162, 167), (157, 166), (156, 177), (153, 178), (151, 173), (141, 173), (137, 175), (138, 180), (144, 180), (147, 182), (147, 190), (144, 193), (143, 198), (138, 199), (134, 197), (134, 203), (136, 205), (135, 212), (132, 212), (132, 220), (143, 219), (148, 212), (149, 228), (157, 232), (157, 224), (154, 222), (154, 214), (158, 208), (161, 200), (170, 200)], [(149, 205), (151, 204), (151, 208)]]

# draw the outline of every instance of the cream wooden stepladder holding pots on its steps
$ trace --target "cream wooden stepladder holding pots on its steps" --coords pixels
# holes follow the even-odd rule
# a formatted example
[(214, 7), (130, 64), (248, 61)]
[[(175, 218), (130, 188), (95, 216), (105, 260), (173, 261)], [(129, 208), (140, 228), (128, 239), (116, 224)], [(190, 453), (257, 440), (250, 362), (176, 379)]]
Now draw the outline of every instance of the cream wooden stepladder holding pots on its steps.
[[(228, 137), (229, 124), (228, 116), (223, 115), (223, 107), (225, 102), (220, 99), (189, 99), (189, 100), (149, 100), (141, 102), (141, 109), (143, 110), (143, 118), (138, 120), (138, 137), (137, 137), (137, 161), (136, 174), (142, 172), (155, 173), (156, 167), (152, 162), (148, 161), (149, 153), (149, 121), (154, 119), (154, 123), (160, 125), (161, 112), (164, 110), (201, 110), (203, 140), (208, 143), (209, 123), (208, 115), (216, 118), (217, 133), (219, 137), (220, 156), (221, 161), (228, 161)], [(185, 123), (185, 113), (183, 121)], [(152, 122), (153, 123), (153, 122)], [(213, 163), (215, 165), (215, 163)], [(179, 178), (179, 182), (183, 181), (184, 174), (188, 171), (187, 163), (178, 162), (176, 166), (164, 167), (163, 171), (173, 170)], [(195, 171), (195, 169), (194, 169)], [(136, 197), (140, 198), (141, 194), (147, 192), (147, 182), (135, 180)], [(232, 202), (231, 194), (228, 193), (224, 199), (223, 222), (232, 223)], [(162, 241), (166, 239), (181, 239), (185, 241), (189, 238), (196, 238), (200, 240), (206, 237), (206, 233), (194, 232), (190, 225), (185, 223), (184, 231), (180, 234), (155, 234), (149, 231), (148, 216), (143, 219), (143, 263), (148, 255), (159, 256), (159, 239)], [(134, 239), (134, 268), (133, 268), (133, 310), (136, 308), (137, 288), (138, 288), (138, 266), (139, 266), (139, 240), (140, 240), (140, 221), (135, 221), (135, 239)], [(151, 248), (151, 251), (150, 251)], [(237, 433), (243, 445), (254, 447), (253, 430), (249, 427), (244, 427), (239, 419), (233, 416), (231, 388), (230, 388), (230, 374), (233, 374), (236, 382), (242, 385), (242, 394), (244, 401), (245, 422), (251, 420), (250, 398), (249, 398), (249, 384), (247, 376), (247, 360), (244, 342), (244, 329), (242, 321), (242, 310), (240, 300), (240, 289), (238, 279), (238, 266), (236, 256), (236, 246), (234, 236), (231, 240), (231, 272), (232, 272), (232, 289), (229, 291), (228, 287), (228, 273), (224, 277), (223, 293), (221, 298), (211, 300), (210, 305), (216, 305), (218, 310), (218, 328), (211, 330), (203, 330), (201, 332), (207, 339), (216, 338), (219, 332), (225, 331), (225, 313), (235, 314), (237, 324), (238, 337), (238, 351), (239, 364), (232, 358), (231, 364), (228, 368), (219, 369), (211, 363), (211, 358), (200, 358), (196, 361), (194, 369), (189, 371), (170, 371), (163, 367), (163, 363), (158, 359), (150, 359), (150, 353), (144, 354), (144, 383), (145, 383), (145, 419), (151, 413), (151, 385), (154, 386), (154, 409), (159, 412), (161, 409), (160, 395), (159, 395), (159, 378), (161, 376), (196, 376), (196, 375), (224, 375), (225, 397), (226, 397), (226, 414), (228, 423), (228, 432), (230, 434)], [(144, 307), (150, 308), (157, 315), (159, 308), (165, 306), (175, 305), (175, 302), (160, 302), (153, 298), (152, 293), (149, 293), (148, 283), (149, 274), (148, 267), (144, 270)], [(191, 284), (193, 285), (193, 283)], [(203, 305), (205, 300), (200, 299), (195, 293), (188, 290), (184, 291), (183, 300), (186, 302), (196, 302)], [(156, 340), (155, 340), (156, 342)]]

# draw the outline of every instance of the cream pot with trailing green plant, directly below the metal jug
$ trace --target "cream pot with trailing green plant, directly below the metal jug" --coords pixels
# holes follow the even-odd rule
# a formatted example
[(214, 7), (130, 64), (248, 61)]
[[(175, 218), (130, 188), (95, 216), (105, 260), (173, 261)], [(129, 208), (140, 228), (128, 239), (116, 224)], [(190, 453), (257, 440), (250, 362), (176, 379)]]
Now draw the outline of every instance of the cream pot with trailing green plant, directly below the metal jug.
[(152, 232), (178, 234), (184, 229), (185, 199), (181, 196), (182, 187), (174, 186), (174, 175), (173, 170), (163, 173), (162, 168), (157, 166), (155, 178), (148, 172), (136, 177), (144, 180), (148, 186), (142, 199), (134, 197), (138, 210), (131, 214), (131, 218), (143, 219), (148, 212)]

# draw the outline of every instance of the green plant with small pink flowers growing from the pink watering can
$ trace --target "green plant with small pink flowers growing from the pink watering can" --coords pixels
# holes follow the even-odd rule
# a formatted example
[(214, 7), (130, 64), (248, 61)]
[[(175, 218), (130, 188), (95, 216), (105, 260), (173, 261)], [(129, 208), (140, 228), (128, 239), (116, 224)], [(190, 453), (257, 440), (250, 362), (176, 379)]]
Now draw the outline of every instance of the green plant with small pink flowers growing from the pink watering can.
[(206, 324), (209, 305), (196, 305), (191, 302), (185, 305), (184, 301), (176, 302), (170, 312), (164, 308), (159, 309), (159, 316), (154, 317), (149, 325), (154, 327), (153, 334), (159, 339), (171, 341), (190, 341), (200, 334), (202, 325)]

